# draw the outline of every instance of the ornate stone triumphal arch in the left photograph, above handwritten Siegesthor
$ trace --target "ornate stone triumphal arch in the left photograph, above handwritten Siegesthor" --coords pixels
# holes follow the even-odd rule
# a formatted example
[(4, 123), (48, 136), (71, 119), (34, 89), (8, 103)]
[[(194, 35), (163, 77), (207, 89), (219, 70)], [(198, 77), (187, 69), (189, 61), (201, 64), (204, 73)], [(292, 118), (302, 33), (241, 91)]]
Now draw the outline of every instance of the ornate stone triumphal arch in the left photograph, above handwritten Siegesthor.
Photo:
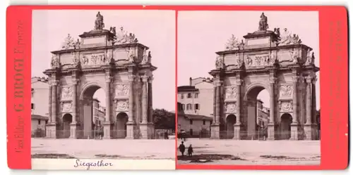
[[(48, 138), (153, 138), (152, 72), (148, 47), (123, 27), (104, 29), (97, 13), (93, 30), (52, 51)], [(93, 122), (93, 94), (105, 93), (105, 117)]]

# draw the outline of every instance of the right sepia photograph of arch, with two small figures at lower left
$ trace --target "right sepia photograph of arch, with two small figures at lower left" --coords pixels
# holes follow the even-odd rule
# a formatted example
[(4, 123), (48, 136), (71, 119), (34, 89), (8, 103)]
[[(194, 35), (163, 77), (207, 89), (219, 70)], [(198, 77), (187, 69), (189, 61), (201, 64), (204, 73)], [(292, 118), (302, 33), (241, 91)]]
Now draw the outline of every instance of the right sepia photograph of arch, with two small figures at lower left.
[(177, 164), (321, 164), (318, 11), (177, 19)]

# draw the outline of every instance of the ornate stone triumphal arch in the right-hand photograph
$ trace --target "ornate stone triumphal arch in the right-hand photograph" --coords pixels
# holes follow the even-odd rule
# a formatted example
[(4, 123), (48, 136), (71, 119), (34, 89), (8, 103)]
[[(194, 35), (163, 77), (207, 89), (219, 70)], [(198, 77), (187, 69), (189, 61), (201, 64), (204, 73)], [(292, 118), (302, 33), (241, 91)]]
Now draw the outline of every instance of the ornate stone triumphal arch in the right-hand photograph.
[(217, 52), (214, 77), (212, 138), (253, 139), (259, 136), (257, 96), (266, 89), (270, 112), (268, 139), (318, 139), (316, 72), (312, 48), (297, 34), (268, 30), (261, 14), (256, 32), (240, 41), (232, 36)]

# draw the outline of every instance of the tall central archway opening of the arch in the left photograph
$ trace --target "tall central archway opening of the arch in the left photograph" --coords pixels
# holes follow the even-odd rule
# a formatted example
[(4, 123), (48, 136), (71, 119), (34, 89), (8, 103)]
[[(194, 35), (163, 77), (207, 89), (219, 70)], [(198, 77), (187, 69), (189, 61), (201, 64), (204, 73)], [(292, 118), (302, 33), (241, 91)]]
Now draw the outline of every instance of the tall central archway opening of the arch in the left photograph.
[[(103, 103), (103, 105), (102, 105)], [(105, 118), (105, 93), (98, 84), (89, 84), (83, 88), (80, 96), (80, 124), (82, 138), (94, 138)]]

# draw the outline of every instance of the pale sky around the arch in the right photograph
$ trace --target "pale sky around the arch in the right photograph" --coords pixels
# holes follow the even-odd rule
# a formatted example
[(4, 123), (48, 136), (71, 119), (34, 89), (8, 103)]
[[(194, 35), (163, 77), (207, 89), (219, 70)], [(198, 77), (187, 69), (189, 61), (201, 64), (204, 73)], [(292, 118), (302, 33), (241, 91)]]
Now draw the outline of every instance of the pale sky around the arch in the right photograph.
[[(258, 30), (261, 13), (268, 17), (268, 30), (287, 28), (298, 34), (302, 44), (313, 48), (319, 66), (318, 11), (179, 11), (178, 12), (178, 86), (189, 85), (189, 77), (211, 77), (217, 51), (224, 51), (232, 34), (238, 39)], [(316, 108), (320, 108), (320, 77), (316, 82)], [(258, 98), (269, 107), (268, 91)]]

